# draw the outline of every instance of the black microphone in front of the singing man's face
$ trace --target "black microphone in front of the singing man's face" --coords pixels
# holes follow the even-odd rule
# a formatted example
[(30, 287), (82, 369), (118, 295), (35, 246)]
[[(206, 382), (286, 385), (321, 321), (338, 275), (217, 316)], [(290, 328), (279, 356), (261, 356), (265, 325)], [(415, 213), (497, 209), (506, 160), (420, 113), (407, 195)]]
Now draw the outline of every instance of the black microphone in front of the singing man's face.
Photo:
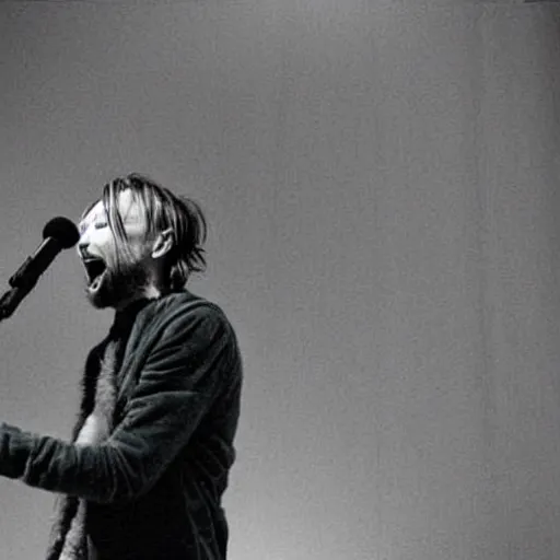
[(9, 317), (21, 301), (33, 290), (40, 275), (62, 249), (78, 243), (80, 233), (68, 218), (52, 218), (43, 229), (43, 243), (8, 281), (12, 290), (0, 299), (0, 319)]

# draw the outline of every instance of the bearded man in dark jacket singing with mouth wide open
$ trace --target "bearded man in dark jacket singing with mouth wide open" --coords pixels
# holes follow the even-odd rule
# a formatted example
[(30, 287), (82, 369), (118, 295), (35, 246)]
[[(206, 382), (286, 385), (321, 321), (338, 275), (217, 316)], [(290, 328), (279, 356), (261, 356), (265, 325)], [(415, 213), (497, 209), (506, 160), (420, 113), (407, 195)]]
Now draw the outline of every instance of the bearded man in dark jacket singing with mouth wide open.
[(115, 308), (90, 352), (72, 443), (0, 427), (0, 475), (58, 492), (48, 560), (223, 560), (242, 361), (223, 312), (185, 284), (206, 221), (141, 175), (85, 210), (86, 296)]

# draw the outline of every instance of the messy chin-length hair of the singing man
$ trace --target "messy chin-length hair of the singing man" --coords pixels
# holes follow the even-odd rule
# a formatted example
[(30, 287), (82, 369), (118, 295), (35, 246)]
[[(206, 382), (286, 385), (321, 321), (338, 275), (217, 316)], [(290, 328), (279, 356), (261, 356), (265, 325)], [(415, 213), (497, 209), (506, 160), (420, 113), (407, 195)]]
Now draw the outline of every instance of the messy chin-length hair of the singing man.
[[(127, 233), (122, 217), (118, 211), (120, 192), (130, 189), (132, 197), (144, 212), (147, 237), (168, 228), (173, 231), (173, 247), (165, 255), (165, 281), (171, 291), (182, 290), (192, 272), (206, 270), (206, 256), (202, 247), (207, 236), (207, 221), (202, 209), (195, 200), (174, 195), (167, 188), (139, 173), (117, 177), (103, 187), (103, 205), (108, 225), (117, 245), (128, 249)], [(93, 202), (82, 218), (95, 206)], [(118, 252), (117, 252), (118, 257)]]

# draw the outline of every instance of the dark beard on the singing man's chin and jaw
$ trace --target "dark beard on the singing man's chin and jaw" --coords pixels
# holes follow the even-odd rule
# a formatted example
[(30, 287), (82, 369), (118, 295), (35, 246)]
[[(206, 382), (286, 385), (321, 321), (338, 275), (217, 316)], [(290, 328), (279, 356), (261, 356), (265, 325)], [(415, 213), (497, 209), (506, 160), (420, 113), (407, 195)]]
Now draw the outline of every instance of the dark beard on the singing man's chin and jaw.
[(149, 285), (149, 273), (141, 261), (124, 261), (115, 267), (107, 266), (98, 278), (89, 282), (85, 295), (97, 310), (117, 308), (141, 298)]

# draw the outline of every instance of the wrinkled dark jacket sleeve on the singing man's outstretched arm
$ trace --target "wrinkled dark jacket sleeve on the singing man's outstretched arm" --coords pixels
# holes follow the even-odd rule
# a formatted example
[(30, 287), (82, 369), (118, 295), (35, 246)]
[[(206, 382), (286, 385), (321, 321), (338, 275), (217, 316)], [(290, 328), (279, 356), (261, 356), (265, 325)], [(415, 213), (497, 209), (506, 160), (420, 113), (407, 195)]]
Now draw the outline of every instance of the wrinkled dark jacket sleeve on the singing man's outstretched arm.
[(147, 358), (124, 420), (98, 445), (0, 427), (0, 475), (94, 502), (138, 498), (158, 481), (211, 406), (228, 373), (233, 334), (199, 306), (172, 320)]

